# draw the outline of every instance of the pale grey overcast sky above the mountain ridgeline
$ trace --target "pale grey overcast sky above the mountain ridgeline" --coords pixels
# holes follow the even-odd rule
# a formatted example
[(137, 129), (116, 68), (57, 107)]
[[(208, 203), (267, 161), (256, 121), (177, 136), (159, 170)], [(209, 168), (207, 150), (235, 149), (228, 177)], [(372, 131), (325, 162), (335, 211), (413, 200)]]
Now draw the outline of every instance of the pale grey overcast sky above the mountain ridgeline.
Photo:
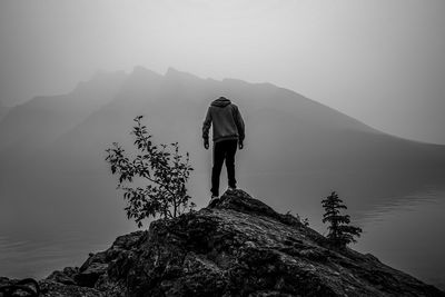
[(385, 132), (445, 145), (443, 0), (2, 0), (0, 102), (97, 71), (271, 82)]

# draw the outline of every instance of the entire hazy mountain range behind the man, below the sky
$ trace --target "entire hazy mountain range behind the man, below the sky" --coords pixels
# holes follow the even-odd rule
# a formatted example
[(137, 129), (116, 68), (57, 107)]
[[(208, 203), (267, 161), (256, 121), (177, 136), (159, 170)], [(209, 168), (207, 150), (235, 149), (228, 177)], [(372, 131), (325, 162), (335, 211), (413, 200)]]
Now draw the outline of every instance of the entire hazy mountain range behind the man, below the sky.
[(246, 121), (239, 185), (256, 197), (274, 197), (267, 202), (280, 211), (317, 214), (333, 189), (358, 211), (425, 182), (444, 185), (444, 146), (388, 136), (270, 83), (200, 79), (174, 69), (161, 76), (140, 67), (102, 80), (70, 95), (36, 98), (0, 125), (0, 196), (36, 222), (32, 228), (53, 220), (98, 230), (122, 224), (105, 149), (113, 141), (131, 148), (138, 115), (146, 116), (155, 141), (179, 141), (190, 152), (190, 192), (207, 197), (211, 152), (202, 148), (201, 123), (219, 96), (237, 103)]

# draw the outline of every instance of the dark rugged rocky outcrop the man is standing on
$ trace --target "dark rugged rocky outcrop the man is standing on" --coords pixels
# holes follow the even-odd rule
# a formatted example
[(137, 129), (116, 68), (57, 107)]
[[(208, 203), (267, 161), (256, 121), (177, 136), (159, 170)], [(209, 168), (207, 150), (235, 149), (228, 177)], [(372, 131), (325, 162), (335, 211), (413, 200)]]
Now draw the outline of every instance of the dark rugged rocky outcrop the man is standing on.
[(241, 190), (118, 237), (40, 284), (42, 296), (445, 296), (372, 255), (332, 249)]

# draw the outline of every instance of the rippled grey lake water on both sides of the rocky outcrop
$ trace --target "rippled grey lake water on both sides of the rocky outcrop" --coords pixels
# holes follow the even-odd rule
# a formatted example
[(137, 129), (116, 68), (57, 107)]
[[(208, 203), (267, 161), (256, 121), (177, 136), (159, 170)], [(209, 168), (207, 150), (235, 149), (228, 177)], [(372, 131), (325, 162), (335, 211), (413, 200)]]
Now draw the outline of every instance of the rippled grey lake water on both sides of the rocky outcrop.
[[(445, 187), (424, 188), (378, 201), (384, 200), (366, 211), (352, 214), (364, 229), (353, 248), (445, 289)], [(119, 215), (116, 217), (122, 217), (120, 209)], [(301, 211), (300, 215), (309, 217), (310, 226), (324, 232), (319, 214)], [(4, 220), (8, 218), (3, 216)], [(103, 250), (117, 236), (136, 229), (132, 224), (107, 224), (96, 229), (76, 222), (60, 224), (47, 236), (20, 236), (17, 230), (1, 232), (0, 276), (42, 278), (52, 270), (79, 266), (89, 253)]]

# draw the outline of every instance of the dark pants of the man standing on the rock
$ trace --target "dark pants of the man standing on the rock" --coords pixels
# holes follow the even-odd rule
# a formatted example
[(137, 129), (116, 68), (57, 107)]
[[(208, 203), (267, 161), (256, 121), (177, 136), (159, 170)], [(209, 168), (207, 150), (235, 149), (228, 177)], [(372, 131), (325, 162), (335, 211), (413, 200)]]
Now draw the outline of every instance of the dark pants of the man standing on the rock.
[(211, 195), (219, 196), (219, 175), (222, 162), (226, 160), (227, 178), (229, 187), (236, 187), (235, 179), (235, 152), (238, 140), (222, 140), (214, 143), (214, 168), (211, 169)]

